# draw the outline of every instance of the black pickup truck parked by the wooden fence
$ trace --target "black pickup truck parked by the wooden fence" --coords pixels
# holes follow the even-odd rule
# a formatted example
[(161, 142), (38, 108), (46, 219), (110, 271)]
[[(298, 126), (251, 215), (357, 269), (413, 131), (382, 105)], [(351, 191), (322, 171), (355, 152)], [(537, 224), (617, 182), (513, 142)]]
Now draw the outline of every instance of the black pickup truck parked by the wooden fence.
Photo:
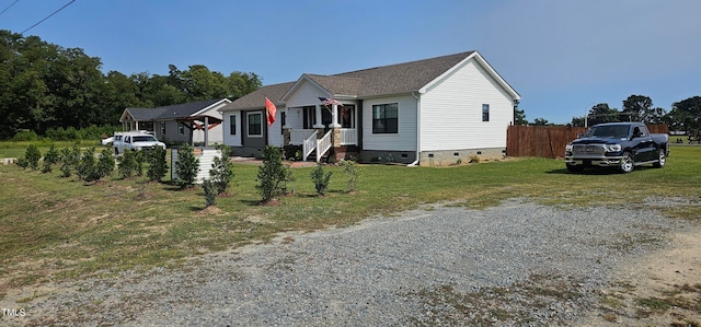
[(669, 136), (650, 133), (642, 122), (607, 122), (591, 126), (586, 133), (565, 147), (570, 172), (585, 167), (616, 167), (630, 173), (635, 166), (665, 166), (669, 155)]

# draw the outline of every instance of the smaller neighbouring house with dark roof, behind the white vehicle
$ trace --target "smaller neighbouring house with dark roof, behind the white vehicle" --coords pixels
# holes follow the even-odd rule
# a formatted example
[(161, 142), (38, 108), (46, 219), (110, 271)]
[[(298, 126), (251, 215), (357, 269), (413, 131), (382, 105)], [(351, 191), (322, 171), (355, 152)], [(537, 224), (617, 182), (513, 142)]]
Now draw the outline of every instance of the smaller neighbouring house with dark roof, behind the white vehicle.
[(158, 108), (126, 108), (119, 122), (124, 131), (152, 131), (166, 143), (220, 144), (223, 139), (219, 110), (230, 103), (228, 98), (216, 98)]

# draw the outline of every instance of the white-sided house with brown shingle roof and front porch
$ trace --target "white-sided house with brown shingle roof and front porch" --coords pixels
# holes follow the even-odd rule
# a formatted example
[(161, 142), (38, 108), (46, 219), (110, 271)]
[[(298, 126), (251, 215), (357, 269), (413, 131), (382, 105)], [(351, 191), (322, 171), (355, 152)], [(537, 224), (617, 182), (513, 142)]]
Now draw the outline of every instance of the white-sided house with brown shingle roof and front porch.
[[(265, 97), (277, 106), (267, 126)], [(333, 100), (323, 105), (320, 98)], [(302, 155), (441, 165), (502, 157), (520, 95), (476, 51), (333, 75), (302, 74), (221, 108), (223, 142), (260, 156), (265, 144)]]

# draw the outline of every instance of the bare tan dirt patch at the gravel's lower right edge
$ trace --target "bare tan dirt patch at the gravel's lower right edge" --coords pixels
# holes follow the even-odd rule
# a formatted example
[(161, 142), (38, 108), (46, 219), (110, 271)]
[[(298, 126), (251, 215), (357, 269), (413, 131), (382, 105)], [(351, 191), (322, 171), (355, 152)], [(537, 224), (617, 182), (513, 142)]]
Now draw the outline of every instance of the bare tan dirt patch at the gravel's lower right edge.
[(604, 290), (594, 326), (699, 326), (701, 226), (674, 235), (671, 247), (623, 267)]

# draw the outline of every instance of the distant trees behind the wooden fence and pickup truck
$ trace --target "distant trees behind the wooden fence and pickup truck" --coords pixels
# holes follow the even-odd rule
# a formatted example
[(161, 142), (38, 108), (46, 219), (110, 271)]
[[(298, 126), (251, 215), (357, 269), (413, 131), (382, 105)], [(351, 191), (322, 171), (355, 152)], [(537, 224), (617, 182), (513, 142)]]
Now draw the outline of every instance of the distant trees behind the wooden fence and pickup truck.
[[(689, 135), (701, 133), (701, 96), (692, 96), (671, 105), (667, 112), (654, 107), (653, 101), (645, 95), (631, 95), (623, 101), (623, 108), (610, 107), (607, 103), (596, 104), (586, 116), (573, 117), (566, 124), (571, 127), (585, 127), (601, 122), (642, 121), (645, 124), (667, 124), (669, 130), (685, 131)], [(554, 125), (544, 118), (536, 118), (532, 122), (526, 119), (522, 109), (516, 110), (516, 125), (549, 126)]]

